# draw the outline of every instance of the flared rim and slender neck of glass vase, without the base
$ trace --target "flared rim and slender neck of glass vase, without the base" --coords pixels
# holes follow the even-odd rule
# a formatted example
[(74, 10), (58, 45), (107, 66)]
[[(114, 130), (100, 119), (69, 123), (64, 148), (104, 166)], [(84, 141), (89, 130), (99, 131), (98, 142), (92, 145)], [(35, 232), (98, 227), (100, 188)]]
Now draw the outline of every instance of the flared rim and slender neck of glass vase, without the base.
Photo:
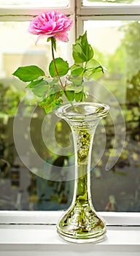
[(109, 113), (109, 106), (93, 102), (75, 102), (64, 104), (57, 115), (70, 125), (74, 138), (75, 185), (73, 202), (77, 205), (89, 205), (90, 196), (90, 157), (93, 135), (101, 118)]

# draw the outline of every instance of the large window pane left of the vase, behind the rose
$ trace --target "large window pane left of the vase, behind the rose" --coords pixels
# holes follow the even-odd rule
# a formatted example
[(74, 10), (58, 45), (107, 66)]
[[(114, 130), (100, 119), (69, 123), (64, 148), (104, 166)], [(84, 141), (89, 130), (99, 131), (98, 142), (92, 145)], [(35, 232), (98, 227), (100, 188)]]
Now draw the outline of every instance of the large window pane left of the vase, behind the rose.
[[(28, 22), (5, 22), (0, 26), (0, 210), (58, 210), (69, 206), (73, 183), (52, 174), (56, 169), (63, 176), (62, 166), (71, 165), (67, 155), (61, 157), (61, 151), (54, 149), (52, 125), (58, 143), (66, 140), (61, 129), (68, 136), (69, 127), (55, 121), (55, 115), (46, 116), (44, 110), (35, 108), (26, 84), (12, 76), (18, 67), (30, 64), (47, 72), (50, 63), (50, 43), (40, 39), (35, 45), (36, 36), (27, 30)], [(58, 55), (68, 60), (68, 48), (68, 43), (60, 42)]]

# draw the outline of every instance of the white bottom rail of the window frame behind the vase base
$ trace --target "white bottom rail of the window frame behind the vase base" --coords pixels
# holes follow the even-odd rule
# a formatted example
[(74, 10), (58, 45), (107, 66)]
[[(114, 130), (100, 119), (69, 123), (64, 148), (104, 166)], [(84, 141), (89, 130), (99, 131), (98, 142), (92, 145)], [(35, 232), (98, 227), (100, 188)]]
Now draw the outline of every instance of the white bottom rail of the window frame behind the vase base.
[[(0, 211), (1, 224), (40, 224), (55, 225), (63, 211)], [(140, 227), (140, 213), (107, 212), (98, 214), (104, 218), (107, 226)]]

